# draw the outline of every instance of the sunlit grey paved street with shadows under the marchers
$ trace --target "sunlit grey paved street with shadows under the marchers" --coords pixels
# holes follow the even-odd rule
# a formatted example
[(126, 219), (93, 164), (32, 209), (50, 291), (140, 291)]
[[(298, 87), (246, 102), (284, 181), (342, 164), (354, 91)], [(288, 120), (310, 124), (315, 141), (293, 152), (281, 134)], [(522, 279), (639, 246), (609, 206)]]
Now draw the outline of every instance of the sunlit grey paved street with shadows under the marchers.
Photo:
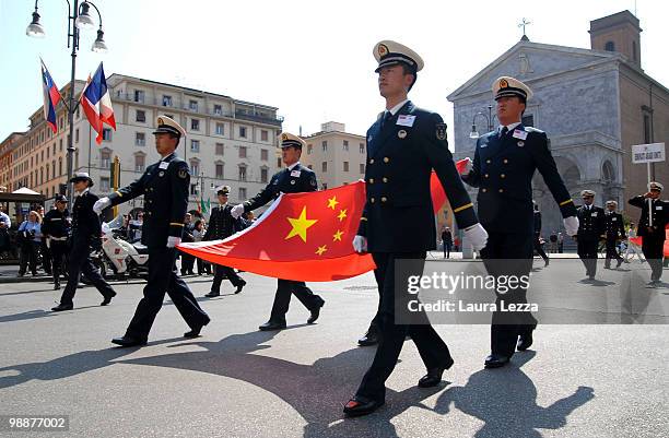
[[(577, 260), (555, 261), (533, 275), (538, 284), (556, 285), (554, 294), (597, 288), (607, 295), (620, 293), (632, 274), (648, 275), (647, 264), (635, 269), (600, 265), (603, 286), (567, 285), (567, 274), (583, 276)], [(224, 283), (226, 295), (200, 298), (212, 317), (201, 338), (181, 338), (188, 328), (167, 301), (143, 348), (109, 343), (124, 333), (141, 282), (115, 284), (118, 296), (108, 307), (98, 306), (94, 289), (79, 289), (75, 309), (61, 313), (48, 310), (59, 294), (47, 282), (0, 284), (0, 415), (67, 414), (69, 431), (39, 435), (57, 437), (669, 436), (666, 324), (632, 318), (635, 324), (540, 325), (532, 351), (497, 370), (482, 368), (489, 327), (439, 325), (456, 360), (441, 387), (416, 388), (424, 369), (407, 342), (388, 380), (387, 404), (343, 419), (341, 403), (374, 354), (355, 344), (377, 304), (372, 274), (313, 283), (327, 301), (318, 323), (305, 324), (308, 312), (294, 299), (289, 329), (278, 333), (257, 331), (275, 281), (243, 275), (248, 286), (240, 295)], [(210, 281), (188, 279), (198, 297)], [(645, 321), (666, 321), (669, 285), (638, 284), (653, 303), (654, 318)]]

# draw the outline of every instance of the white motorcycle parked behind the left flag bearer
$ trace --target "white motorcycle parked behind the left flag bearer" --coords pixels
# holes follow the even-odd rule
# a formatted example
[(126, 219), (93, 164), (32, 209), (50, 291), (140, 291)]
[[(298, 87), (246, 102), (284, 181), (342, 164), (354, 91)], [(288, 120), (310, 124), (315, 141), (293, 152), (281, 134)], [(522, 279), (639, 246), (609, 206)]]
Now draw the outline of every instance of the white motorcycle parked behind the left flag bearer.
[(139, 241), (128, 241), (120, 229), (122, 216), (103, 223), (102, 249), (97, 251), (94, 263), (105, 279), (117, 280), (146, 279), (149, 274), (149, 250)]

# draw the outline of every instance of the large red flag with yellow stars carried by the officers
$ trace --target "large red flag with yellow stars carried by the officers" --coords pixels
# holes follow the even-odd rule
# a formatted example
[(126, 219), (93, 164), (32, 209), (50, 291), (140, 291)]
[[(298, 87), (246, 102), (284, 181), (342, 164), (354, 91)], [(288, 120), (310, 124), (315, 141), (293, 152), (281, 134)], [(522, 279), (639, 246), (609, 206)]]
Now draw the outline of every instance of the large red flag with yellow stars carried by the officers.
[[(467, 159), (456, 163), (462, 173)], [(446, 200), (436, 174), (435, 212)], [(373, 270), (372, 256), (353, 250), (365, 205), (365, 184), (324, 191), (283, 193), (250, 227), (224, 240), (181, 244), (184, 252), (211, 263), (284, 280), (329, 282)]]

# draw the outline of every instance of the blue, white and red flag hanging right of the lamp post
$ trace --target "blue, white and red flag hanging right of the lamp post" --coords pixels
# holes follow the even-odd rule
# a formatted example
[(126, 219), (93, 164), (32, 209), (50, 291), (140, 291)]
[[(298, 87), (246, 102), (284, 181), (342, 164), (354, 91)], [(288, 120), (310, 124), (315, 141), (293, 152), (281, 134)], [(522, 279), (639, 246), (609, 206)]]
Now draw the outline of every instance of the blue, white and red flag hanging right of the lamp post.
[(81, 94), (80, 103), (86, 115), (86, 119), (89, 119), (89, 122), (95, 132), (97, 132), (95, 142), (97, 144), (102, 143), (104, 123), (107, 123), (116, 131), (111, 97), (107, 88), (107, 81), (105, 79), (105, 71), (103, 70), (102, 62), (97, 70), (95, 70), (93, 78), (89, 76), (86, 86)]

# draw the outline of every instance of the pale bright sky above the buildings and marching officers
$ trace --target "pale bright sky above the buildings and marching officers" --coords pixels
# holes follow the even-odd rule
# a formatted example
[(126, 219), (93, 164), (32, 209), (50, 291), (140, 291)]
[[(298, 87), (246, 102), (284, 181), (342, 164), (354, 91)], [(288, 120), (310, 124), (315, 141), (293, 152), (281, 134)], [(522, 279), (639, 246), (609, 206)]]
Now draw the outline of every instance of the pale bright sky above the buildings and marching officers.
[[(0, 0), (0, 139), (27, 129), (43, 103), (39, 56), (59, 87), (70, 80), (67, 1), (39, 2), (47, 36), (30, 38), (33, 0)], [(548, 1), (169, 1), (97, 0), (106, 55), (81, 38), (77, 78), (104, 61), (105, 72), (271, 105), (284, 130), (318, 131), (336, 120), (364, 134), (384, 100), (372, 48), (382, 39), (419, 52), (425, 68), (410, 97), (453, 125), (446, 96), (518, 42), (589, 48), (590, 20), (630, 10), (641, 20), (642, 63), (669, 86), (669, 2)], [(97, 16), (95, 16), (97, 22)], [(541, 127), (539, 127), (541, 128)], [(449, 135), (451, 137), (451, 135)]]

